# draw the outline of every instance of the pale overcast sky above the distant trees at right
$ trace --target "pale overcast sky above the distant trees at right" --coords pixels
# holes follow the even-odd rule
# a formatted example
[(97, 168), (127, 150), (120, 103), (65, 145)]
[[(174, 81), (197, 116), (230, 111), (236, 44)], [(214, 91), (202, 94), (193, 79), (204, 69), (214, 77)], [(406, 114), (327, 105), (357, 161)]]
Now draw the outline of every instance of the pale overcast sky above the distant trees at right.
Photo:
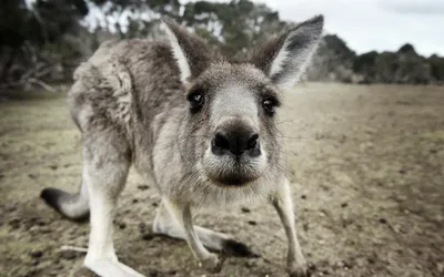
[[(188, 1), (181, 1), (188, 2)], [(444, 0), (261, 0), (281, 19), (325, 16), (325, 31), (336, 33), (357, 53), (395, 51), (411, 42), (424, 55), (444, 55)]]

